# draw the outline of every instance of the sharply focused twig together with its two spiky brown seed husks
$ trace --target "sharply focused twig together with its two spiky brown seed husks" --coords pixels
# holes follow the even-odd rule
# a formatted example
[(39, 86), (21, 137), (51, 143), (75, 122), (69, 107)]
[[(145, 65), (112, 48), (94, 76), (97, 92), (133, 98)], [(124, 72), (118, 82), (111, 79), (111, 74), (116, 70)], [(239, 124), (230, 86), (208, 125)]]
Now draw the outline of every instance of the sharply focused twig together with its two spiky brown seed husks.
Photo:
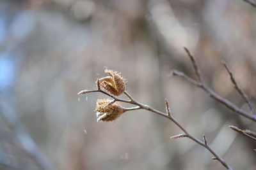
[[(208, 145), (207, 139), (205, 138), (205, 136), (203, 136), (202, 141), (198, 138), (195, 138), (195, 136), (189, 134), (189, 132), (186, 131), (186, 129), (177, 120), (175, 120), (175, 118), (171, 114), (170, 106), (166, 99), (165, 99), (166, 113), (163, 113), (159, 110), (155, 110), (154, 108), (152, 108), (146, 104), (139, 103), (138, 101), (133, 99), (128, 92), (125, 91), (125, 81), (122, 78), (122, 76), (120, 76), (120, 74), (113, 72), (113, 71), (109, 71), (109, 70), (106, 70), (105, 73), (109, 74), (109, 76), (105, 77), (105, 78), (100, 78), (96, 81), (96, 85), (97, 85), (96, 90), (82, 90), (81, 92), (78, 93), (78, 94), (88, 94), (88, 93), (92, 93), (92, 92), (100, 92), (102, 94), (106, 94), (107, 96), (113, 98), (113, 100), (111, 100), (111, 99), (98, 99), (97, 100), (96, 111), (97, 111), (97, 121), (98, 122), (109, 122), (112, 120), (116, 120), (116, 118), (120, 117), (120, 115), (125, 113), (125, 111), (131, 111), (131, 110), (152, 111), (153, 113), (156, 113), (157, 115), (161, 115), (162, 117), (168, 118), (184, 132), (184, 134), (172, 136), (171, 137), (172, 139), (189, 138), (189, 139), (195, 141), (195, 143), (198, 143), (198, 145), (203, 146), (209, 152), (211, 152), (212, 155), (214, 156), (214, 157), (212, 157), (213, 160), (218, 160), (226, 169), (230, 169), (230, 170), (232, 169), (232, 167), (230, 167), (227, 164), (227, 162), (225, 162), (225, 160), (222, 159), (220, 157), (220, 155), (218, 155), (218, 153), (216, 153), (211, 148), (211, 146)], [(199, 69), (198, 69), (197, 74), (200, 74)], [(199, 78), (199, 80), (201, 80), (201, 78)], [(195, 81), (195, 80), (193, 80), (193, 81)], [(111, 87), (113, 87), (113, 88), (111, 88)], [(103, 88), (104, 90), (102, 90), (101, 88)], [(128, 99), (120, 99), (120, 98), (116, 97), (122, 93), (124, 93), (124, 95)], [(118, 103), (118, 102), (129, 103), (129, 104), (133, 104), (135, 106), (132, 108), (123, 108), (122, 106), (120, 106), (120, 103)]]

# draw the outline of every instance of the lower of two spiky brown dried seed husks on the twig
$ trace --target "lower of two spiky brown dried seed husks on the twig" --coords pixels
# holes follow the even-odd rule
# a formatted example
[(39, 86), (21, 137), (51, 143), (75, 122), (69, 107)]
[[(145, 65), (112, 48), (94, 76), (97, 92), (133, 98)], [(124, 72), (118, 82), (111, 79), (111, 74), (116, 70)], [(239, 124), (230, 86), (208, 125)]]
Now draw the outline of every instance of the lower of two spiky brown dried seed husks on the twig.
[(97, 111), (97, 122), (113, 121), (124, 113), (124, 108), (120, 106), (118, 102), (110, 104), (108, 107), (104, 108), (109, 102), (111, 102), (110, 99), (97, 99), (95, 108)]

